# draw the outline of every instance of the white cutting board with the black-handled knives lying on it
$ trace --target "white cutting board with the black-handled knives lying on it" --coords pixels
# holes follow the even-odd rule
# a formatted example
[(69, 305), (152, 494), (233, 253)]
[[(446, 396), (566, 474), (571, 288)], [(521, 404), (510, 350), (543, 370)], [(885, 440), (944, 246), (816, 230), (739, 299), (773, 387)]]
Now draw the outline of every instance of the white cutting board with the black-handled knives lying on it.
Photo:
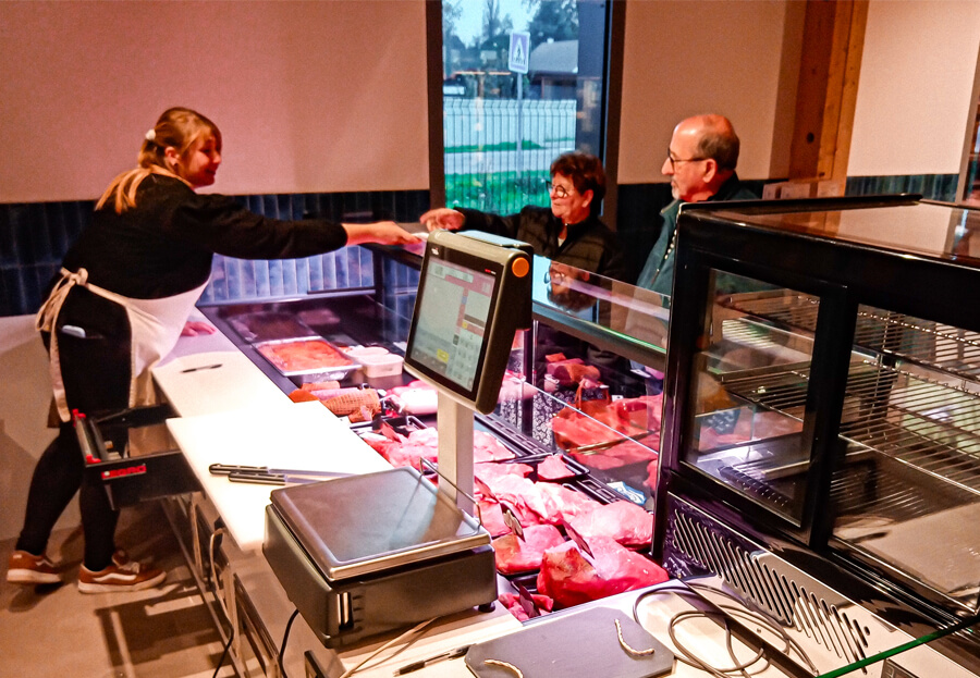
[(321, 403), (168, 419), (167, 427), (242, 550), (261, 548), (265, 508), (275, 486), (233, 483), (212, 476), (211, 464), (344, 473), (391, 468)]

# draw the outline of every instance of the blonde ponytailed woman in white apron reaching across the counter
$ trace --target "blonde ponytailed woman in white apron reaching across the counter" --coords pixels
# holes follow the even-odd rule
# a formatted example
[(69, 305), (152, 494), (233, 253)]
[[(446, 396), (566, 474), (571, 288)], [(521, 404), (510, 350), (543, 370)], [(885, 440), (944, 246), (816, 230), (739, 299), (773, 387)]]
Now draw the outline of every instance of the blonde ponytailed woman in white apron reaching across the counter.
[(163, 112), (144, 135), (137, 165), (117, 176), (91, 224), (69, 249), (37, 316), (50, 356), (60, 431), (30, 481), (24, 528), (8, 581), (57, 583), (45, 555), (56, 521), (79, 491), (84, 593), (155, 587), (166, 572), (115, 547), (118, 513), (101, 488), (82, 483), (83, 457), (71, 414), (154, 402), (150, 370), (176, 344), (208, 282), (213, 255), (285, 259), (362, 243), (408, 244), (393, 222), (338, 224), (267, 219), (226, 196), (197, 194), (215, 183), (221, 132), (186, 108)]

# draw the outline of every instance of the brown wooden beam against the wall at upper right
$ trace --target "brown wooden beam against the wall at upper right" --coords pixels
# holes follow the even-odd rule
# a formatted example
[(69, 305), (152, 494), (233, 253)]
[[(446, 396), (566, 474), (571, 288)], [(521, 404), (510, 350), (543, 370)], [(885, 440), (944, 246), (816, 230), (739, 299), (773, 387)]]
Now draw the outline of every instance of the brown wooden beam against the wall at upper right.
[(847, 178), (868, 0), (807, 0), (789, 178)]

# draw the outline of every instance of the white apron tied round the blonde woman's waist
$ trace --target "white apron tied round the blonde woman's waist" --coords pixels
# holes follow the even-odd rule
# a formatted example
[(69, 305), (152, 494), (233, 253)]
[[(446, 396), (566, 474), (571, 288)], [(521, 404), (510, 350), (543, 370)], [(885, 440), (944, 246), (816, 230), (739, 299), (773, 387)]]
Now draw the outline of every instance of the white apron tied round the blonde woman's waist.
[(132, 333), (128, 406), (152, 405), (156, 402), (156, 393), (151, 369), (163, 356), (173, 350), (181, 336), (181, 330), (184, 329), (184, 323), (207, 283), (189, 292), (162, 299), (132, 299), (90, 284), (88, 271), (85, 269), (78, 269), (77, 273), (61, 269), (61, 280), (38, 311), (35, 326), (51, 335), (49, 370), (51, 386), (54, 390), (54, 404), (62, 421), (71, 421), (72, 416), (64, 395), (64, 380), (61, 377), (61, 360), (58, 354), (58, 333), (54, 326), (61, 306), (75, 285), (82, 285), (93, 294), (126, 309)]

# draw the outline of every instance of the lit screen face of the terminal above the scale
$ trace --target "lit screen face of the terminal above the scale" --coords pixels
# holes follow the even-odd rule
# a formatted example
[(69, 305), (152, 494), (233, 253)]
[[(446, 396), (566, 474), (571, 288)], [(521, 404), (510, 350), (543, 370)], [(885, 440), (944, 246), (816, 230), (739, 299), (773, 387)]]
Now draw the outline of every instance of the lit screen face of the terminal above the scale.
[(436, 261), (422, 284), (412, 358), (471, 392), (483, 359), (497, 276)]

